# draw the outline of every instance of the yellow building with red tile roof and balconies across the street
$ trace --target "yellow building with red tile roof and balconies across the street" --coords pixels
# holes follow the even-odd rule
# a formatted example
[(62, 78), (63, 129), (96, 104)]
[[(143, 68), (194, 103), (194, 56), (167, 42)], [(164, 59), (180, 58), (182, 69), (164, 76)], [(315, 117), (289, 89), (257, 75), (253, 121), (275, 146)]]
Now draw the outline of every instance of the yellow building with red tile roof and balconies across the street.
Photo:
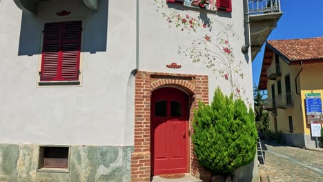
[(312, 119), (307, 119), (304, 103), (305, 94), (323, 95), (322, 45), (323, 37), (266, 43), (259, 88), (268, 93), (265, 108), (271, 112), (270, 129), (282, 131), (288, 145), (315, 147)]

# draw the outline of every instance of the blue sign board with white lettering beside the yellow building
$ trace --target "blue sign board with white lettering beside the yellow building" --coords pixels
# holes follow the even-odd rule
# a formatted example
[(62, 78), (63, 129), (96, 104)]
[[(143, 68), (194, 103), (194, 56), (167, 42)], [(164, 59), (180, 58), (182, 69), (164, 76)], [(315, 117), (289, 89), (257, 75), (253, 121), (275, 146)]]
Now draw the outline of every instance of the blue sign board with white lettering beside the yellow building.
[(323, 122), (322, 99), (320, 93), (305, 94), (306, 119), (308, 123), (312, 121)]

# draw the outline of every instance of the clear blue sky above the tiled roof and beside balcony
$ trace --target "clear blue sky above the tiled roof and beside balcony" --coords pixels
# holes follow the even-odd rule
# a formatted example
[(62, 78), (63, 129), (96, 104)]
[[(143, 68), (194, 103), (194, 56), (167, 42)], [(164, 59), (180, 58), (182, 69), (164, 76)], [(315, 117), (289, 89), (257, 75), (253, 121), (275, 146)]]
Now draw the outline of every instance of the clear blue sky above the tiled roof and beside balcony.
[[(281, 0), (283, 15), (267, 40), (323, 37), (322, 0)], [(253, 60), (253, 83), (258, 85), (264, 45)]]

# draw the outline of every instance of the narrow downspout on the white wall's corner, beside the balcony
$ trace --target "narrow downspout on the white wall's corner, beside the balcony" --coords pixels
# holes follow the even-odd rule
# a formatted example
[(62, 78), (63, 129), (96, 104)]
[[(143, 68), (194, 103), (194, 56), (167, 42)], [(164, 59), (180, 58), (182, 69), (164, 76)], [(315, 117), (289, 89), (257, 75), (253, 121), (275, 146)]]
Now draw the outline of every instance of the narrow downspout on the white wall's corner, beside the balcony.
[(248, 53), (250, 47), (250, 26), (249, 26), (249, 10), (248, 0), (244, 0), (244, 45), (242, 45), (241, 51), (244, 54)]

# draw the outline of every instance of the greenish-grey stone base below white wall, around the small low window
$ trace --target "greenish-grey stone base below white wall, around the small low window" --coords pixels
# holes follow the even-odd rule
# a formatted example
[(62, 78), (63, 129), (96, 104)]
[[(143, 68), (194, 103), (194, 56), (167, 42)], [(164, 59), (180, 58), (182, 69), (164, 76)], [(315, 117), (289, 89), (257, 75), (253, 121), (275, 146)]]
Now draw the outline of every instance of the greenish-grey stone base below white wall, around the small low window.
[(41, 172), (39, 145), (0, 144), (0, 181), (130, 181), (133, 146), (69, 146), (67, 170)]

